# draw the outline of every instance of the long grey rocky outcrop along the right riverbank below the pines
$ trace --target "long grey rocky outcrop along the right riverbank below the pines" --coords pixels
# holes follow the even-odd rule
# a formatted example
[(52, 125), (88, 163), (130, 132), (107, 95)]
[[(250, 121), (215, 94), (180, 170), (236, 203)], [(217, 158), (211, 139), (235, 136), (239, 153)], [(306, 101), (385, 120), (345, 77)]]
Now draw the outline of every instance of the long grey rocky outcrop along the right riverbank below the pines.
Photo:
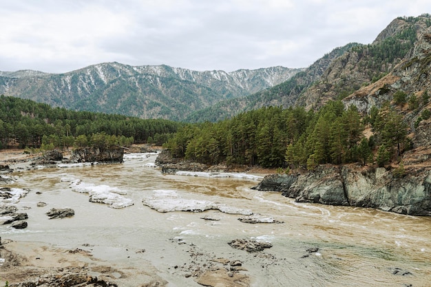
[(266, 176), (255, 189), (268, 191), (273, 187), (273, 191), (282, 191), (297, 202), (431, 216), (431, 169), (410, 167), (401, 175), (394, 170), (325, 165), (299, 176)]

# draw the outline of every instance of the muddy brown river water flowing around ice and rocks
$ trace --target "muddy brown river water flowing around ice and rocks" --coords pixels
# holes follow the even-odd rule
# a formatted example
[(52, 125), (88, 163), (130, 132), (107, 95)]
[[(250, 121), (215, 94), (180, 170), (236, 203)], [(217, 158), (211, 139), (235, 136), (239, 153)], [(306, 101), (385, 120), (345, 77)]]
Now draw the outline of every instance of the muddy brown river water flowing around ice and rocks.
[[(1, 237), (64, 248), (90, 246), (94, 257), (147, 268), (169, 282), (167, 286), (200, 286), (185, 276), (187, 268), (178, 268), (199, 260), (191, 259), (191, 246), (202, 257), (239, 259), (255, 287), (431, 286), (430, 217), (297, 203), (280, 193), (250, 189), (258, 178), (163, 175), (151, 167), (155, 159), (155, 154), (125, 155), (123, 164), (17, 173), (8, 186), (30, 189), (17, 203), (26, 207), (28, 228), (0, 226)], [(76, 181), (118, 189), (133, 205), (114, 209), (89, 202), (87, 193), (72, 188)], [(242, 215), (213, 209), (159, 212), (143, 204), (160, 195), (179, 204), (213, 202), (282, 223), (247, 224), (238, 220)], [(47, 205), (38, 207), (38, 202)], [(75, 215), (48, 220), (45, 213), (53, 207), (70, 207)], [(246, 253), (227, 244), (237, 238), (271, 242), (273, 247)], [(127, 281), (120, 286), (140, 284)]]

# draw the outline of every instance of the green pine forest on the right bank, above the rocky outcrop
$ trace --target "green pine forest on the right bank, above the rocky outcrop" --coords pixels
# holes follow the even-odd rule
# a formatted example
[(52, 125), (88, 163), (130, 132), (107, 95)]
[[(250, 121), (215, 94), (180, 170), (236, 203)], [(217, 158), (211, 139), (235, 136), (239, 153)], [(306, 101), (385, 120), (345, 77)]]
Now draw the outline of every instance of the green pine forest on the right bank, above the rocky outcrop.
[[(374, 133), (366, 138), (369, 127)], [(336, 100), (319, 111), (264, 107), (218, 123), (185, 125), (164, 147), (174, 157), (206, 164), (313, 169), (377, 160), (383, 166), (410, 147), (407, 130), (389, 103), (361, 118), (355, 106), (345, 109)]]

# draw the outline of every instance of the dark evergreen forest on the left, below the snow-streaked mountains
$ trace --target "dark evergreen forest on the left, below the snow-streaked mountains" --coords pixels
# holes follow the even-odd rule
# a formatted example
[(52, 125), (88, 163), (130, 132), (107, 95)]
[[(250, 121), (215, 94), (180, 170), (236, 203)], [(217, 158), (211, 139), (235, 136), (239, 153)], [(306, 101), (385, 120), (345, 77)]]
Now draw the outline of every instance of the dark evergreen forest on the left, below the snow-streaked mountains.
[(113, 142), (125, 146), (145, 142), (162, 145), (180, 125), (170, 120), (70, 111), (0, 96), (0, 149), (100, 145), (101, 138), (105, 146)]

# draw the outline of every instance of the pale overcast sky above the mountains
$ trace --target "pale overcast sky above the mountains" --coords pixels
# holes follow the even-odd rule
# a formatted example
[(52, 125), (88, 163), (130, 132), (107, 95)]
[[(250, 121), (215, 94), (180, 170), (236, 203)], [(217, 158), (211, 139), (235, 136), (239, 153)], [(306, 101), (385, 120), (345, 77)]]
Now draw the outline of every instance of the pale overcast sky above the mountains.
[(0, 71), (308, 67), (424, 13), (429, 0), (0, 0)]

